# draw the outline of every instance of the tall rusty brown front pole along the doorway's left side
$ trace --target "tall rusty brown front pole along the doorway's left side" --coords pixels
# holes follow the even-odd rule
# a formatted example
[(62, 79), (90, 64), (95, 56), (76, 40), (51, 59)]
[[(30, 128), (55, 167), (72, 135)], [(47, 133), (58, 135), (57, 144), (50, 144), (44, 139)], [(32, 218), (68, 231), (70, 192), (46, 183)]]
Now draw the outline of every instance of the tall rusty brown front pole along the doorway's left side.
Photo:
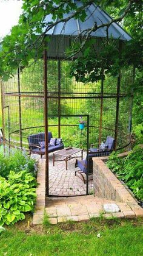
[(48, 89), (47, 89), (47, 49), (44, 49), (44, 125), (45, 125), (45, 187), (48, 196)]

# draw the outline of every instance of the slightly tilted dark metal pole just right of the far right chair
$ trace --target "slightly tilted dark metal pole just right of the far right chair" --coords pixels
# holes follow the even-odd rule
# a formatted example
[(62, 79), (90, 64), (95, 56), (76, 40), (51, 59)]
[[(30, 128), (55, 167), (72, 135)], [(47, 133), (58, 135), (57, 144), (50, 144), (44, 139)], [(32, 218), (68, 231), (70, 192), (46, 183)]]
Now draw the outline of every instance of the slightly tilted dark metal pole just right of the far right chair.
[[(119, 58), (121, 58), (122, 52), (122, 41), (119, 40)], [(119, 76), (117, 81), (117, 102), (116, 102), (116, 123), (115, 123), (115, 145), (114, 150), (117, 148), (118, 139), (118, 124), (119, 124), (119, 94), (120, 94), (120, 84), (121, 84), (121, 69), (119, 69)]]

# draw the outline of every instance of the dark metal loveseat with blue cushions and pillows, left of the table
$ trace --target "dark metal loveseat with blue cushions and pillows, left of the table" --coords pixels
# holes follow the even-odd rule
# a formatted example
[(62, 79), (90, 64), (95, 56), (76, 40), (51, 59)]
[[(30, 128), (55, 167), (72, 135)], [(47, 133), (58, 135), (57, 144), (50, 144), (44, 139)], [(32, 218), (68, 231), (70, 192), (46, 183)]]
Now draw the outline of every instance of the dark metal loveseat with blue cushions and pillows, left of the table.
[[(50, 139), (52, 138), (52, 132), (48, 132), (48, 152), (54, 152), (57, 151), (59, 149), (64, 149), (64, 144), (56, 144), (55, 146), (50, 146)], [(44, 142), (45, 141), (45, 133), (44, 132), (40, 132), (37, 134), (33, 134), (28, 136), (28, 144), (29, 144), (29, 150), (30, 150), (30, 155), (31, 154), (38, 154), (41, 155), (45, 155), (45, 145), (44, 146), (40, 146), (40, 142)]]

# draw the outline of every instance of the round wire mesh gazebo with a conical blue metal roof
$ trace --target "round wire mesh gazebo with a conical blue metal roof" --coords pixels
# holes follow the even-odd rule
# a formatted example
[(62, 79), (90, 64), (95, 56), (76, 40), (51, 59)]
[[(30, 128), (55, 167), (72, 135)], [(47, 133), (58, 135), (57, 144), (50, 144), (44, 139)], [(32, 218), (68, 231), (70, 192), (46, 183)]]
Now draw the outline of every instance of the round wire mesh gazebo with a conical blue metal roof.
[[(81, 5), (80, 1), (75, 2)], [(84, 22), (74, 18), (66, 23), (57, 22), (47, 32), (49, 40), (41, 58), (36, 62), (31, 60), (22, 71), (18, 67), (11, 79), (1, 82), (4, 151), (7, 148), (8, 151), (13, 148), (28, 151), (27, 137), (45, 133), (48, 196), (53, 196), (49, 191), (52, 154), (48, 152), (48, 132), (55, 138), (62, 138), (65, 148), (84, 149), (87, 158), (90, 144), (101, 144), (107, 137), (114, 138), (114, 150), (127, 148), (131, 141), (133, 68), (120, 70), (117, 77), (106, 75), (99, 82), (86, 84), (76, 82), (69, 74), (70, 63), (80, 54), (68, 59), (67, 49), (71, 49), (75, 41), (81, 42), (84, 30), (95, 23), (111, 21), (111, 17), (95, 4), (90, 4), (86, 13)], [(46, 21), (52, 21), (52, 16), (48, 15)], [(101, 27), (90, 35), (95, 38), (97, 52), (101, 51), (107, 37), (115, 43), (119, 53), (125, 41), (131, 40), (119, 24), (111, 23), (108, 29)], [(85, 121), (83, 130), (79, 129), (80, 116)], [(88, 194), (88, 171), (86, 176), (85, 194)]]

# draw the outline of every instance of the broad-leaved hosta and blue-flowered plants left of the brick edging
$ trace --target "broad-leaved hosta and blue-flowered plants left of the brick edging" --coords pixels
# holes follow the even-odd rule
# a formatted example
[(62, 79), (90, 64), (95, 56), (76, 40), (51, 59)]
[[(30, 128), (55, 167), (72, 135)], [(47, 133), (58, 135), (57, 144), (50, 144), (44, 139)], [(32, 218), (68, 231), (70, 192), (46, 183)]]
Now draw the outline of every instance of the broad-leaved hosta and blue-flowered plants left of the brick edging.
[(35, 160), (21, 151), (0, 155), (0, 226), (33, 212), (36, 201)]

